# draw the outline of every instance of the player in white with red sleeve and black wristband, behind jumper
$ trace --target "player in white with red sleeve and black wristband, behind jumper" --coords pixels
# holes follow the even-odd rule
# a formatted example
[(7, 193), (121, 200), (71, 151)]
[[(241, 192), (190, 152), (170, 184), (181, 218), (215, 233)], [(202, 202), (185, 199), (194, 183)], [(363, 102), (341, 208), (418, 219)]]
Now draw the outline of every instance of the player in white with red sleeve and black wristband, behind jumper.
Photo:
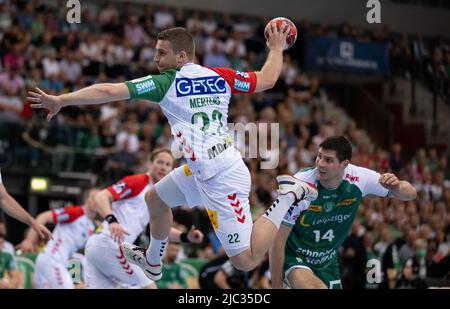
[[(156, 149), (147, 173), (126, 176), (95, 196), (98, 213), (105, 220), (86, 245), (87, 288), (156, 288), (141, 268), (126, 261), (120, 243), (133, 243), (145, 231), (149, 223), (145, 194), (172, 171), (173, 162), (170, 150)], [(189, 233), (175, 228), (170, 231), (171, 242), (202, 240), (203, 234), (194, 227)]]

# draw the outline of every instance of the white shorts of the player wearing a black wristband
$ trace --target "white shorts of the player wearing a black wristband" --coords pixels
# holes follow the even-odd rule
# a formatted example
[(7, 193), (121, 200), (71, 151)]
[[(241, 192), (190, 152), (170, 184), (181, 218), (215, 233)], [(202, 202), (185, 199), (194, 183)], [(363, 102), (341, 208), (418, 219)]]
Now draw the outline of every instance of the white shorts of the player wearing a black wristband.
[(105, 234), (92, 235), (85, 249), (86, 288), (144, 288), (153, 281), (142, 269), (128, 263), (118, 243)]

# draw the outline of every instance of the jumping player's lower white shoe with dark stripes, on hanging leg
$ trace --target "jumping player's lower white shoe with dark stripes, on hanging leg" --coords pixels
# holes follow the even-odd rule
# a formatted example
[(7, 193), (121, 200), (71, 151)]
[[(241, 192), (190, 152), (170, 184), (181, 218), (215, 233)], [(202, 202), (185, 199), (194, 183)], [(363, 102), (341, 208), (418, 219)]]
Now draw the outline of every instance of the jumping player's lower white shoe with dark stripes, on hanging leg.
[(151, 280), (156, 281), (162, 277), (162, 263), (158, 265), (151, 265), (147, 262), (146, 251), (147, 249), (135, 246), (133, 244), (122, 242), (120, 244), (122, 247), (123, 255), (125, 259), (133, 263), (144, 271), (145, 275)]

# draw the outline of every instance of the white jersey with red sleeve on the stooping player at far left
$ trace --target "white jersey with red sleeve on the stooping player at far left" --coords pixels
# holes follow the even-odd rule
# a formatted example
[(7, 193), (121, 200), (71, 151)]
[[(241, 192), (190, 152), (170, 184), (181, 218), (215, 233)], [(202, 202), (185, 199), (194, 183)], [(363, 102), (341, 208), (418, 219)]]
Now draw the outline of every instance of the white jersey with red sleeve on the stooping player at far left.
[(52, 211), (56, 227), (43, 254), (60, 263), (66, 263), (78, 250), (84, 248), (94, 231), (94, 223), (82, 206), (67, 206)]

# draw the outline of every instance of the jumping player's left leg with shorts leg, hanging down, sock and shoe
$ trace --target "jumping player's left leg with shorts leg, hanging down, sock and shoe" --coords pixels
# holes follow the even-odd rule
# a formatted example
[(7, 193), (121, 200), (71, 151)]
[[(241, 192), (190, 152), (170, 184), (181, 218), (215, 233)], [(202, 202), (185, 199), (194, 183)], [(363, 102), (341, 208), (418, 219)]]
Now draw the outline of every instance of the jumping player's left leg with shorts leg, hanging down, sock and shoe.
[(187, 165), (174, 169), (162, 178), (146, 195), (150, 213), (150, 246), (147, 250), (122, 243), (125, 257), (140, 266), (147, 277), (159, 280), (162, 276), (162, 256), (172, 227), (171, 208), (201, 204), (201, 198)]

